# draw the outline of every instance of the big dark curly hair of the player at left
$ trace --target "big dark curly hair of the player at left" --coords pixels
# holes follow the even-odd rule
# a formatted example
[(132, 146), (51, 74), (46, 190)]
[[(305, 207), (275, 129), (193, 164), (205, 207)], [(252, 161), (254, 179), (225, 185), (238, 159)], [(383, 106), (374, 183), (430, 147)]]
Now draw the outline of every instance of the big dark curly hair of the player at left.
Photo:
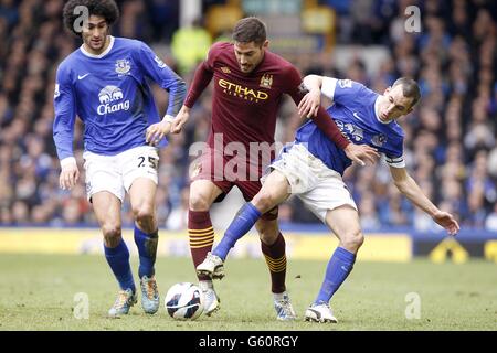
[(88, 15), (103, 17), (109, 26), (119, 19), (119, 8), (114, 0), (70, 0), (64, 6), (62, 17), (65, 29), (77, 36), (81, 36), (81, 32), (74, 28), (74, 21), (81, 13), (74, 13), (74, 9), (80, 6), (88, 9)]

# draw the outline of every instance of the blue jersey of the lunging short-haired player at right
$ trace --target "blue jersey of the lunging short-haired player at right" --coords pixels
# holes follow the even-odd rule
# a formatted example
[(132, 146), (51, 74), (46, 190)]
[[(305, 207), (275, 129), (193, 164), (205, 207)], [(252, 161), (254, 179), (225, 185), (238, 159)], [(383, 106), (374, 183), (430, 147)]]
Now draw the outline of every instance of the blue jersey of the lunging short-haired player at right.
[[(334, 104), (327, 109), (340, 131), (353, 143), (369, 145), (385, 156), (387, 163), (404, 168), (404, 132), (394, 121), (383, 122), (377, 116), (379, 95), (350, 79), (324, 77), (321, 92)], [(309, 120), (296, 132), (296, 143), (305, 143), (310, 153), (343, 174), (352, 161)]]

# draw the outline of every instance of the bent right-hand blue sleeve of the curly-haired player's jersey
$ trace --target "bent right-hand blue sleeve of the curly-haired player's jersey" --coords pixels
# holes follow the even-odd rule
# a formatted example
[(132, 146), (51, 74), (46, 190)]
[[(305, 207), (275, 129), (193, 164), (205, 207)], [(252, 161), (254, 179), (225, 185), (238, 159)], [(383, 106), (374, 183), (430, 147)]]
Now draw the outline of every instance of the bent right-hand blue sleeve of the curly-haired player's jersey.
[(140, 42), (140, 51), (137, 62), (144, 73), (163, 89), (169, 92), (169, 105), (167, 115), (176, 116), (187, 95), (187, 84), (179, 77), (159, 56), (145, 43)]

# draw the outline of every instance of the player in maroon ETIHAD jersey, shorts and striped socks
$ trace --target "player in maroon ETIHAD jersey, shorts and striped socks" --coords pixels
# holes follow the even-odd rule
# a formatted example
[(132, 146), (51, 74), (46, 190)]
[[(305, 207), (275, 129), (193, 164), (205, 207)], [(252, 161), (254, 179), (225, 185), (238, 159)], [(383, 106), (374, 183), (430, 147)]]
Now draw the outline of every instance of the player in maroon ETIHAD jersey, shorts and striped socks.
[[(190, 109), (214, 78), (209, 148), (193, 169), (195, 172), (191, 175), (190, 185), (188, 232), (195, 267), (203, 261), (214, 243), (209, 214), (211, 205), (222, 201), (234, 185), (247, 202), (257, 194), (261, 190), (258, 178), (274, 157), (274, 151), (269, 152), (265, 161), (261, 161), (261, 153), (251, 153), (251, 147), (274, 148), (276, 115), (283, 94), (288, 94), (298, 105), (306, 93), (295, 66), (267, 50), (266, 29), (258, 19), (251, 17), (240, 20), (232, 38), (234, 43), (215, 43), (211, 46), (207, 60), (195, 71), (187, 99), (176, 119), (165, 119), (150, 126), (147, 131), (147, 140), (151, 143), (170, 131), (178, 133), (187, 122)], [(361, 158), (374, 159), (374, 150), (350, 143), (324, 108), (309, 118), (350, 159), (360, 164), (363, 164)], [(237, 153), (233, 153), (234, 150)], [(264, 214), (255, 228), (271, 271), (277, 319), (294, 320), (295, 312), (285, 287), (285, 240), (278, 229), (277, 207)], [(199, 285), (205, 297), (205, 312), (211, 314), (219, 309), (212, 280), (199, 275)]]

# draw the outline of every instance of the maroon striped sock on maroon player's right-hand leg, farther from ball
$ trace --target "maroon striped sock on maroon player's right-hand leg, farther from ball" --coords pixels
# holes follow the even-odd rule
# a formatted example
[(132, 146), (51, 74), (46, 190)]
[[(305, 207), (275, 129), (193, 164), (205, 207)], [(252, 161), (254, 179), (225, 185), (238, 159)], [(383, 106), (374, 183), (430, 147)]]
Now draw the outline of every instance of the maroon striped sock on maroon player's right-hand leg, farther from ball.
[(266, 258), (267, 267), (271, 272), (271, 291), (273, 293), (283, 293), (285, 291), (286, 277), (286, 255), (285, 238), (282, 233), (278, 234), (276, 242), (272, 245), (261, 242), (261, 248)]

